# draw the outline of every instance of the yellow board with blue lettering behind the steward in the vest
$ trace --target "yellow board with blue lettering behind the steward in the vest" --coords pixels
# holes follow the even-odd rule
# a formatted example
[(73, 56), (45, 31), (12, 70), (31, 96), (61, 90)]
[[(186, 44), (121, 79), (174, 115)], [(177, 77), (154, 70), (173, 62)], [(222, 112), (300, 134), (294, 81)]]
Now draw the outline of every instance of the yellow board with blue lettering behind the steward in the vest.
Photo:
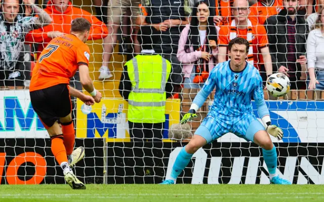
[[(107, 141), (130, 141), (127, 119), (128, 102), (122, 98), (103, 98), (91, 112), (82, 111), (84, 103), (77, 100), (76, 137), (105, 137)], [(163, 138), (180, 122), (180, 99), (167, 99)], [(89, 113), (89, 114), (87, 114)]]

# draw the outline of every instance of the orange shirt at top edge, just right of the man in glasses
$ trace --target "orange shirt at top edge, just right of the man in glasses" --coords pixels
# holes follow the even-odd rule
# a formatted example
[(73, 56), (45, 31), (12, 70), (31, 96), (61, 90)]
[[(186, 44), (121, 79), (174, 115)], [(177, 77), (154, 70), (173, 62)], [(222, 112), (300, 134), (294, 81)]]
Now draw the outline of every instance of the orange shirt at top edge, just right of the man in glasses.
[(264, 25), (265, 20), (273, 15), (277, 15), (284, 7), (282, 0), (258, 0), (251, 6), (249, 19), (255, 25)]

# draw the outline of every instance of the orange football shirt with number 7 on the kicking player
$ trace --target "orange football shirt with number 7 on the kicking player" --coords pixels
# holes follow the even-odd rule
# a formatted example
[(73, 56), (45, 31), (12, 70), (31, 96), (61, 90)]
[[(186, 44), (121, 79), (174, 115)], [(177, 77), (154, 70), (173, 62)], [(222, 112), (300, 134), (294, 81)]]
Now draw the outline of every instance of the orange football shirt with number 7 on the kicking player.
[(89, 65), (87, 44), (73, 34), (56, 37), (44, 48), (32, 71), (29, 91), (68, 84), (79, 65)]

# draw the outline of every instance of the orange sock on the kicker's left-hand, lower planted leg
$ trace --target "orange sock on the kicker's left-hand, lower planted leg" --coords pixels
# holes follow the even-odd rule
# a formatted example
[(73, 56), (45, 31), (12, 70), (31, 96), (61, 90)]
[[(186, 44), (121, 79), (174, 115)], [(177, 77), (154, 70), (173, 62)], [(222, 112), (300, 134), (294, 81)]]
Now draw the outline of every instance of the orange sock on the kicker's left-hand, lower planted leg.
[(51, 137), (51, 142), (52, 153), (61, 166), (62, 162), (67, 162), (66, 150), (63, 144), (63, 134)]

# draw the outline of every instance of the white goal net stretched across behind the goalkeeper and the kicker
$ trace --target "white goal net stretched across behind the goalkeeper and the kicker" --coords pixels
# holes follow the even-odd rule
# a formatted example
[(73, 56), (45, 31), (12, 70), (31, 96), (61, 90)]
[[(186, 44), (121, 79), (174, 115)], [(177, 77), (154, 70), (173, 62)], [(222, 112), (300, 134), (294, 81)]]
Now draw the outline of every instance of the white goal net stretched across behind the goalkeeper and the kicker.
[[(284, 131), (282, 140), (271, 137), (277, 149), (277, 172), (295, 184), (323, 184), (321, 46), (317, 39), (311, 45), (308, 38), (314, 25), (315, 30), (317, 25), (321, 27), (321, 22), (316, 21), (321, 1), (299, 1), (288, 9), (284, 6), (288, 0), (283, 1), (248, 1), (242, 6), (243, 0), (206, 0), (206, 7), (198, 9), (203, 4), (198, 0), (64, 0), (63, 4), (56, 0), (36, 1), (52, 18), (50, 25), (28, 34), (20, 33), (22, 29), (11, 31), (10, 36), (17, 34), (15, 39), (6, 38), (7, 33), (0, 36), (0, 48), (5, 47), (7, 54), (21, 53), (11, 59), (1, 58), (4, 66), (12, 60), (14, 69), (0, 72), (0, 183), (65, 183), (51, 153), (50, 137), (32, 109), (28, 85), (32, 68), (51, 38), (68, 34), (71, 20), (85, 17), (92, 24), (87, 41), (90, 76), (102, 100), (89, 107), (71, 97), (75, 148), (86, 149), (84, 160), (73, 168), (80, 180), (141, 184), (160, 183), (170, 176), (181, 147), (191, 139), (211, 107), (221, 105), (214, 102), (215, 90), (198, 110), (197, 118), (182, 126), (180, 120), (206, 82), (205, 76), (218, 63), (229, 60), (228, 42), (241, 36), (250, 42), (247, 61), (259, 69), (264, 85), (269, 73), (289, 69), (290, 92), (273, 97), (264, 89), (271, 122)], [(21, 5), (21, 17), (35, 14), (28, 5)], [(9, 25), (0, 22), (0, 30), (5, 26)], [(24, 45), (19, 49), (5, 43), (8, 39), (16, 44), (20, 36)], [(144, 56), (160, 57), (150, 62), (152, 59)], [(139, 65), (134, 63), (135, 57)], [(143, 64), (148, 63), (161, 71), (145, 72)], [(313, 78), (319, 84), (316, 89), (308, 89), (308, 83), (315, 82)], [(78, 73), (70, 85), (87, 93)], [(145, 89), (149, 93), (143, 93)], [(135, 94), (136, 90), (140, 95)], [(148, 104), (153, 96), (165, 105), (154, 108), (155, 104)], [(130, 100), (138, 106), (131, 109)], [(254, 101), (252, 108), (259, 117)], [(147, 109), (152, 111), (148, 113)], [(163, 121), (139, 121), (156, 120), (161, 110), (165, 111)], [(136, 116), (140, 118), (134, 121)], [(267, 184), (269, 173), (259, 146), (226, 133), (197, 150), (177, 183)]]

